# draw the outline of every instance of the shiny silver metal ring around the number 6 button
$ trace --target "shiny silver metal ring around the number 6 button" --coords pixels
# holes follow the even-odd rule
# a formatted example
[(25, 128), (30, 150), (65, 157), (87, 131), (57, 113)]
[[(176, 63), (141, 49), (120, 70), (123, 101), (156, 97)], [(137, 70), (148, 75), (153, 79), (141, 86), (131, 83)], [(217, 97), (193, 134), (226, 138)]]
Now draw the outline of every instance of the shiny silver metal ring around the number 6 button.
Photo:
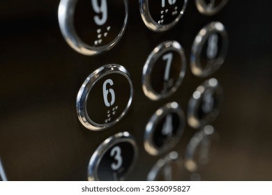
[[(103, 78), (105, 75), (109, 75), (113, 73), (123, 75), (128, 80), (128, 83), (130, 84), (130, 99), (128, 100), (126, 109), (123, 110), (123, 113), (119, 116), (119, 118), (117, 118), (116, 120), (113, 120), (110, 123), (98, 124), (93, 122), (93, 120), (89, 118), (89, 115), (86, 111), (86, 101), (88, 99), (88, 95), (91, 89), (96, 84), (96, 82), (99, 79)], [(121, 120), (121, 118), (125, 116), (128, 109), (130, 108), (132, 100), (133, 100), (133, 83), (130, 80), (130, 74), (126, 70), (126, 68), (117, 64), (104, 65), (98, 68), (97, 70), (95, 70), (94, 72), (92, 72), (91, 75), (89, 75), (89, 77), (86, 78), (86, 80), (84, 81), (84, 83), (82, 84), (80, 88), (80, 91), (77, 93), (77, 101), (76, 101), (77, 116), (80, 122), (82, 123), (82, 125), (84, 125), (84, 127), (86, 127), (87, 129), (93, 130), (93, 131), (105, 130), (108, 127), (112, 127), (113, 125), (118, 123), (119, 120)]]

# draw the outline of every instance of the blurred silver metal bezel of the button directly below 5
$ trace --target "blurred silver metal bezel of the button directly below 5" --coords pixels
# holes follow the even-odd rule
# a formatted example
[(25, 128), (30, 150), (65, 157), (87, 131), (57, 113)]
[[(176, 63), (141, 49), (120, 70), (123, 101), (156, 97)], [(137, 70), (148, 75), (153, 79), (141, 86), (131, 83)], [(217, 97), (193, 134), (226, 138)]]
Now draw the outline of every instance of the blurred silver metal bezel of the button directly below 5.
[(211, 139), (216, 134), (216, 131), (211, 125), (206, 125), (199, 131), (197, 131), (190, 139), (186, 146), (186, 154), (184, 159), (184, 165), (186, 169), (192, 173), (195, 173), (199, 169), (198, 163), (195, 161), (195, 152), (198, 146), (203, 144), (205, 138)]

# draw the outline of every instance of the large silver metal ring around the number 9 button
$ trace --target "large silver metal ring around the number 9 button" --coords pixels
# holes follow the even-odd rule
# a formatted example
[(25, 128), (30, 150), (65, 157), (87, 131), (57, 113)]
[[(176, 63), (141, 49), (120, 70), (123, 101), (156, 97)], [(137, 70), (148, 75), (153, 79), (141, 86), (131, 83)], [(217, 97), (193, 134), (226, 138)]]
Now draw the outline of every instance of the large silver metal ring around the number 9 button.
[(128, 0), (123, 0), (126, 9), (126, 17), (119, 35), (112, 42), (101, 47), (92, 47), (83, 42), (77, 35), (74, 26), (74, 13), (77, 1), (78, 0), (61, 0), (59, 3), (59, 26), (63, 38), (66, 40), (68, 45), (70, 45), (70, 47), (72, 47), (76, 52), (86, 56), (97, 55), (112, 49), (112, 47), (114, 47), (114, 45), (116, 45), (116, 43), (119, 42), (120, 38), (123, 36), (128, 23)]

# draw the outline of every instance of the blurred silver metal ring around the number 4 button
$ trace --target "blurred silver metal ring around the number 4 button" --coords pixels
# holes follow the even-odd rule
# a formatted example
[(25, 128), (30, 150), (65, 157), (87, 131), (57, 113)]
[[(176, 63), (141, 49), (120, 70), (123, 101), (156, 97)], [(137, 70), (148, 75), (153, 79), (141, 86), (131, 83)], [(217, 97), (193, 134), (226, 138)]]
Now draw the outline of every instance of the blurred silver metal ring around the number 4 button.
[[(156, 130), (156, 127), (158, 123), (160, 123), (160, 120), (162, 120), (167, 114), (169, 113), (176, 113), (179, 115), (180, 124), (179, 129), (176, 131), (175, 137), (172, 137), (172, 140), (169, 141), (169, 143), (165, 144), (161, 148), (157, 148), (155, 146), (155, 143), (153, 142), (153, 135), (154, 130)], [(165, 104), (165, 106), (158, 109), (153, 116), (151, 116), (149, 123), (146, 125), (146, 130), (144, 133), (144, 149), (147, 153), (150, 155), (160, 155), (162, 153), (167, 152), (168, 150), (174, 148), (176, 144), (181, 139), (181, 136), (184, 132), (185, 128), (185, 116), (183, 114), (183, 111), (179, 107), (179, 104), (177, 102), (169, 102)]]

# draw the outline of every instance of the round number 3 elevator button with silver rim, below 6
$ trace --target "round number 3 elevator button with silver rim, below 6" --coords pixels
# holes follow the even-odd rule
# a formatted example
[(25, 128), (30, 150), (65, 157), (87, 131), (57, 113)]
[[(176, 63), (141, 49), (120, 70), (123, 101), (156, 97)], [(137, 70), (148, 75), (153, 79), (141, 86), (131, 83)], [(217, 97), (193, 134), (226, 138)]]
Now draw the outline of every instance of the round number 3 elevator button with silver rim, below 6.
[(88, 166), (88, 180), (124, 180), (136, 163), (138, 150), (128, 132), (106, 139), (93, 153)]

